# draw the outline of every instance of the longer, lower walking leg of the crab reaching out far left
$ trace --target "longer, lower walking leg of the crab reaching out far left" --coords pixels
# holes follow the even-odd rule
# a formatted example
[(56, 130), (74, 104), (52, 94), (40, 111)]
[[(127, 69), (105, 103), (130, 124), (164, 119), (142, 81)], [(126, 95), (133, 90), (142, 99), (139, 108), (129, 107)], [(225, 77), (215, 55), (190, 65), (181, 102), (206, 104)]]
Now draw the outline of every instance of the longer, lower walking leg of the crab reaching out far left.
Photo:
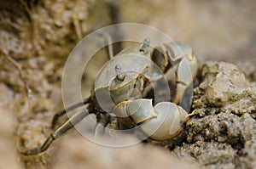
[(26, 150), (25, 152), (21, 152), (22, 155), (38, 155), (39, 153), (44, 152), (46, 149), (49, 148), (49, 145), (52, 144), (52, 142), (59, 138), (63, 133), (67, 132), (69, 129), (71, 129), (74, 125), (79, 123), (79, 121), (82, 121), (85, 116), (89, 115), (86, 111), (81, 111), (76, 115), (73, 115), (68, 121), (66, 121), (61, 127), (59, 127), (55, 132), (52, 132), (44, 142), (42, 146), (39, 146), (34, 149)]

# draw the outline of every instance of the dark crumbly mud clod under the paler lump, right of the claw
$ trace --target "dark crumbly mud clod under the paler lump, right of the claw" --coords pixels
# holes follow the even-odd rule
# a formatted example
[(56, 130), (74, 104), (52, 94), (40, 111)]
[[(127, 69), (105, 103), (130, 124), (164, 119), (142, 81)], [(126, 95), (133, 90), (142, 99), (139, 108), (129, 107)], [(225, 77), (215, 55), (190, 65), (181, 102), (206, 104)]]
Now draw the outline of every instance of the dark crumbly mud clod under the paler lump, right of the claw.
[(253, 138), (252, 131), (256, 128), (256, 122), (248, 114), (239, 117), (219, 112), (217, 115), (194, 117), (188, 121), (186, 128), (186, 139), (189, 143), (217, 141), (241, 149), (245, 141)]

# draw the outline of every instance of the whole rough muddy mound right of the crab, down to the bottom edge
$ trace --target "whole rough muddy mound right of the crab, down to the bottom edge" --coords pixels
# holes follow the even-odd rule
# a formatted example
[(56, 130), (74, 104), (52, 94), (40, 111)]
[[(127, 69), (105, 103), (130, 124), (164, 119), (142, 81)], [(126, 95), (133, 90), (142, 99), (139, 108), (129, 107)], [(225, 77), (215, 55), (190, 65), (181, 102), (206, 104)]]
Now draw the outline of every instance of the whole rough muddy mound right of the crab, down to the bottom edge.
[(191, 155), (206, 168), (255, 167), (255, 83), (224, 62), (203, 65), (202, 79), (183, 132), (188, 144), (174, 151)]

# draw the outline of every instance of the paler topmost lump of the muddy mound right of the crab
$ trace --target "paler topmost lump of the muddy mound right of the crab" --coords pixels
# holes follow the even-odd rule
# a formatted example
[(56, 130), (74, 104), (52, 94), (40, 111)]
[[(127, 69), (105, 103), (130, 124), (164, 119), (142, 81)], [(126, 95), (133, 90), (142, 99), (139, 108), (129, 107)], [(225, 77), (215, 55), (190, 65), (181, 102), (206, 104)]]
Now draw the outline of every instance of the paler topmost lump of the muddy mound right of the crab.
[(195, 108), (216, 107), (236, 115), (256, 110), (256, 85), (248, 82), (236, 65), (207, 62), (201, 74), (204, 79), (195, 88)]

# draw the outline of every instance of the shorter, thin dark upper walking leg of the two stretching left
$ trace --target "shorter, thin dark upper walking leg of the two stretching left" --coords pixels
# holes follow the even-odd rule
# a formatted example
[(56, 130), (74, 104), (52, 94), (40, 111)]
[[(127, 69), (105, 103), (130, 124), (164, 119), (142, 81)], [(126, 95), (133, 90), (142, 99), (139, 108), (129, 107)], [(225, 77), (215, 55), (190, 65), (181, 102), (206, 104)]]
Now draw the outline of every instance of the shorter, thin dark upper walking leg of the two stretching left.
[(79, 103), (76, 103), (76, 104), (73, 104), (73, 105), (70, 105), (69, 107), (67, 107), (67, 109), (64, 109), (64, 110), (61, 110), (59, 112), (57, 112), (54, 117), (53, 117), (53, 120), (51, 122), (51, 128), (54, 128), (57, 121), (59, 120), (59, 118), (62, 116), (62, 115), (65, 115), (67, 112), (71, 111), (71, 110), (74, 110), (84, 104), (89, 104), (89, 99), (84, 99), (83, 102), (79, 102)]

